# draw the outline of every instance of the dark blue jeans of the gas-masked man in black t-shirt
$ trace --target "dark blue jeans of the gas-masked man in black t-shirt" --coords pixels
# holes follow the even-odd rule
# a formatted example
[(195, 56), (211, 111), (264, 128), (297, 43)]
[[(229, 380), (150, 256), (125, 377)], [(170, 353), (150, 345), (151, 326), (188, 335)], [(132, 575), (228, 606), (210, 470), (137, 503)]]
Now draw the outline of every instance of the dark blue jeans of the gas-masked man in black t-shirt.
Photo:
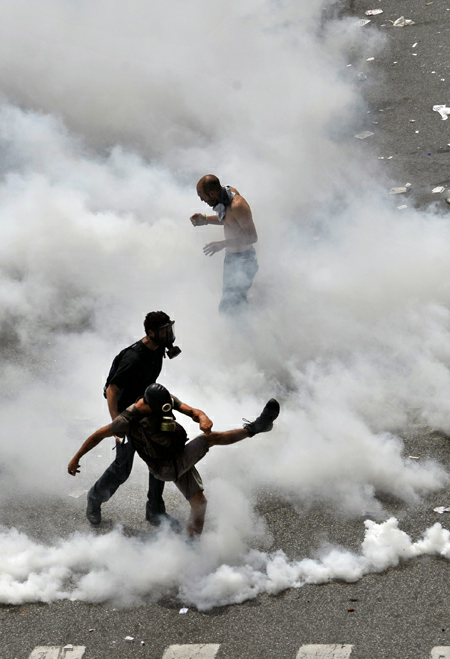
[[(134, 454), (135, 449), (129, 441), (126, 444), (116, 443), (116, 459), (91, 487), (89, 498), (96, 503), (109, 501), (117, 488), (125, 483), (131, 474)], [(162, 498), (163, 490), (164, 481), (158, 480), (149, 472), (146, 517), (162, 515), (166, 512)]]

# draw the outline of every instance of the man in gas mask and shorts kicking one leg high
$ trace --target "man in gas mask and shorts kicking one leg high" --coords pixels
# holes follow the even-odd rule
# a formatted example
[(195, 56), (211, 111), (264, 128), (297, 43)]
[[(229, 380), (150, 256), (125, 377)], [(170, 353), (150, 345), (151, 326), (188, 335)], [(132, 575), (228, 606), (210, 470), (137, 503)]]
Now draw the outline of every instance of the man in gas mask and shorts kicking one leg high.
[[(173, 411), (186, 414), (199, 424), (203, 434), (189, 443), (184, 428), (175, 421)], [(69, 474), (80, 471), (80, 459), (106, 437), (126, 434), (149, 471), (162, 481), (173, 481), (189, 501), (191, 514), (187, 531), (190, 537), (200, 535), (206, 513), (203, 483), (195, 464), (205, 457), (211, 446), (234, 444), (246, 437), (272, 430), (280, 405), (271, 398), (255, 421), (226, 432), (213, 432), (212, 421), (201, 410), (171, 396), (165, 387), (155, 383), (145, 390), (143, 398), (116, 416), (108, 426), (88, 437), (69, 462)]]

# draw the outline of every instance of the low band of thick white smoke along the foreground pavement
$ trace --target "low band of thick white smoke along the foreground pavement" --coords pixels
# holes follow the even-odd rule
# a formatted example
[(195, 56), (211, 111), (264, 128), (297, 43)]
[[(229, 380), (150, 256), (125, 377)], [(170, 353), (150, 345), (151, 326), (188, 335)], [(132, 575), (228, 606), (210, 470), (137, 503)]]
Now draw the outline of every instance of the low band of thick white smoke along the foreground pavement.
[[(49, 547), (15, 529), (0, 529), (0, 602), (78, 599), (129, 606), (171, 588), (184, 604), (207, 611), (305, 584), (355, 582), (418, 556), (450, 558), (450, 531), (439, 523), (416, 542), (394, 517), (382, 524), (367, 520), (365, 526), (358, 554), (328, 547), (317, 558), (293, 561), (282, 550), (250, 549), (227, 564), (211, 554), (209, 534), (195, 548), (170, 533), (158, 542), (139, 541), (125, 538), (120, 529), (102, 536), (76, 533)], [(124, 570), (124, 565), (136, 567)]]

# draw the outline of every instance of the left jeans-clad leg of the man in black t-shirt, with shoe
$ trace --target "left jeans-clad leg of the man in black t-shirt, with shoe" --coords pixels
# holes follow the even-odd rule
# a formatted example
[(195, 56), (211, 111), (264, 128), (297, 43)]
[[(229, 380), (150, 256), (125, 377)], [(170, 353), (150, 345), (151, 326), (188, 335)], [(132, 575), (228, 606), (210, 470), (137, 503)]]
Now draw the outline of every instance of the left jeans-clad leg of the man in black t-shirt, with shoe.
[(116, 442), (116, 459), (100, 476), (88, 493), (86, 517), (94, 526), (102, 521), (101, 505), (112, 497), (122, 483), (125, 483), (133, 467), (135, 450), (131, 442)]

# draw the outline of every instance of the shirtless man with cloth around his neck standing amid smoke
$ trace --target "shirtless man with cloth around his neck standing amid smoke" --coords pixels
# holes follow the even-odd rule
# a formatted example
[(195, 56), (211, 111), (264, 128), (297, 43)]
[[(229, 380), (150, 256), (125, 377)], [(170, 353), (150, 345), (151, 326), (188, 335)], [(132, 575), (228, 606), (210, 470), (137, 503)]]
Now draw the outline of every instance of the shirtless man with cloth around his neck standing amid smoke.
[(220, 184), (217, 176), (207, 174), (197, 183), (197, 194), (216, 215), (195, 213), (191, 217), (194, 227), (205, 224), (223, 225), (225, 240), (208, 243), (205, 256), (212, 256), (226, 248), (223, 264), (223, 289), (219, 311), (236, 314), (248, 305), (247, 293), (258, 272), (253, 243), (258, 240), (250, 206), (235, 188)]

